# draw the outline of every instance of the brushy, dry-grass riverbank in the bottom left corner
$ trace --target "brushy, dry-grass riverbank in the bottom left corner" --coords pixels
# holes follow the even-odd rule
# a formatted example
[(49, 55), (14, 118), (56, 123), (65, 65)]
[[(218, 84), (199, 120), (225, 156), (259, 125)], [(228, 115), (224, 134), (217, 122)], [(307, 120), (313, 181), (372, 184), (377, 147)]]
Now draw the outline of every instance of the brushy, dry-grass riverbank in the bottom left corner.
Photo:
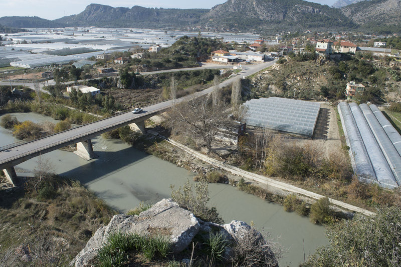
[(20, 179), (20, 186), (0, 190), (0, 258), (5, 266), (67, 265), (116, 214), (79, 181), (53, 174)]

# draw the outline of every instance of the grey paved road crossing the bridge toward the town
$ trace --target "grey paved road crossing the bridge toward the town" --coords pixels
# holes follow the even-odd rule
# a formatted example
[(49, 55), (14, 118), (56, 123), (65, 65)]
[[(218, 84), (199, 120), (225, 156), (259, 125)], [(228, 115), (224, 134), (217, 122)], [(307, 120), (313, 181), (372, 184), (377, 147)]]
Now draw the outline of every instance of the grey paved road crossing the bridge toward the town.
[[(269, 66), (272, 66), (275, 63), (275, 61), (271, 62), (266, 62), (260, 64), (260, 66), (255, 65), (255, 66), (246, 66), (243, 71), (239, 73), (238, 76), (232, 77), (226, 81), (223, 81), (220, 86), (224, 87), (227, 85), (230, 85), (233, 81), (238, 79), (239, 77), (243, 76), (249, 76), (254, 73), (257, 73), (258, 70), (262, 70), (264, 68), (267, 68)], [(210, 87), (208, 89), (205, 89), (203, 91), (194, 93), (192, 95), (188, 95), (183, 98), (177, 99), (177, 103), (188, 99), (192, 97), (198, 97), (201, 95), (208, 94), (212, 92), (213, 87)], [(172, 106), (172, 101), (164, 101), (160, 102), (154, 105), (150, 105), (147, 107), (144, 107), (144, 112), (140, 114), (133, 114), (132, 112), (126, 112), (122, 113), (117, 116), (113, 116), (107, 119), (99, 120), (90, 124), (86, 124), (80, 127), (76, 127), (73, 129), (70, 129), (65, 132), (61, 132), (52, 136), (48, 136), (36, 141), (32, 141), (29, 143), (25, 143), (16, 147), (8, 148), (4, 151), (0, 152), (0, 169), (4, 168), (5, 166), (10, 166), (14, 165), (14, 163), (21, 163), (25, 160), (28, 160), (29, 158), (32, 158), (32, 155), (38, 154), (40, 151), (43, 151), (42, 153), (47, 153), (52, 151), (52, 148), (57, 149), (57, 146), (60, 144), (66, 144), (67, 142), (71, 141), (82, 141), (86, 139), (89, 139), (91, 136), (95, 136), (98, 134), (101, 134), (102, 132), (105, 132), (106, 129), (113, 128), (116, 126), (123, 126), (135, 121), (139, 121), (140, 117), (148, 116), (153, 113), (160, 112), (162, 110), (166, 110), (169, 107)], [(54, 150), (53, 149), (53, 150)], [(31, 155), (31, 156), (30, 156)], [(13, 164), (11, 164), (13, 163)]]

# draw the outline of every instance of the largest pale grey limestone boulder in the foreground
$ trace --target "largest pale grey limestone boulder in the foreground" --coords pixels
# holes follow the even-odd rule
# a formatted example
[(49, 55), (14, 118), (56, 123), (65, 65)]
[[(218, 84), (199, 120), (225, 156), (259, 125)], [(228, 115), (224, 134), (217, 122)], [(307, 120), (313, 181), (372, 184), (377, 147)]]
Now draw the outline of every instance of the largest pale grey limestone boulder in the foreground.
[(163, 199), (139, 215), (115, 215), (107, 226), (96, 231), (71, 263), (76, 267), (86, 266), (113, 232), (166, 236), (171, 241), (172, 252), (176, 253), (189, 245), (199, 228), (198, 220), (190, 211), (179, 207), (171, 199)]

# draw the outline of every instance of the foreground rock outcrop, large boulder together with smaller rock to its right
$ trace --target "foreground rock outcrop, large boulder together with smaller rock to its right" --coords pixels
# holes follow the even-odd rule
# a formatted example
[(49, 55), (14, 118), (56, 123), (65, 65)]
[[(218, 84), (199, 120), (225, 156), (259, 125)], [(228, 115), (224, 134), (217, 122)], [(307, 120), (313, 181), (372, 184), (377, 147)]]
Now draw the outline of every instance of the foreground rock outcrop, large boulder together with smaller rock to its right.
[[(196, 218), (190, 211), (181, 208), (171, 199), (162, 199), (150, 209), (139, 215), (115, 215), (107, 226), (102, 226), (89, 239), (85, 247), (71, 261), (76, 267), (90, 266), (90, 261), (97, 256), (99, 249), (106, 243), (111, 233), (137, 233), (145, 236), (161, 235), (168, 237), (173, 253), (179, 253), (191, 243), (192, 238), (200, 231), (208, 234), (216, 229), (224, 234), (227, 240), (241, 240), (251, 230), (251, 226), (243, 221), (233, 220), (229, 224), (205, 222)], [(259, 238), (262, 234), (257, 232)], [(226, 248), (225, 255), (229, 258), (233, 251)]]

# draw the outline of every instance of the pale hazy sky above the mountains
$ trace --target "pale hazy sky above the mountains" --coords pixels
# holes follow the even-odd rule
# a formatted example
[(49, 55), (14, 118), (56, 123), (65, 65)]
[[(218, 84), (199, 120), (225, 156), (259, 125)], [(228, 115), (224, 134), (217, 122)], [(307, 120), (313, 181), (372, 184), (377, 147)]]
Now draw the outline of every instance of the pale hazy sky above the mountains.
[[(227, 0), (0, 0), (0, 17), (38, 16), (54, 20), (81, 13), (91, 3), (112, 7), (141, 6), (146, 8), (203, 8), (210, 9)], [(285, 1), (285, 0), (282, 0)], [(333, 5), (335, 0), (310, 0), (322, 5)]]

